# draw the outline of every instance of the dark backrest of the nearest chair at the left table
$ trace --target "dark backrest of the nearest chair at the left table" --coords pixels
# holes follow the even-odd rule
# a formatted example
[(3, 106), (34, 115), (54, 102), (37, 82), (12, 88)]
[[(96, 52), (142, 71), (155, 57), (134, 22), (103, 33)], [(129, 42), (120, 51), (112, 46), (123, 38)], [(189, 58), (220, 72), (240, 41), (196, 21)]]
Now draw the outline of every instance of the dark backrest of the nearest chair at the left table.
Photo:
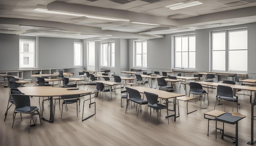
[(26, 95), (13, 94), (12, 98), (15, 104), (15, 109), (22, 108), (24, 106), (30, 106), (30, 99)]

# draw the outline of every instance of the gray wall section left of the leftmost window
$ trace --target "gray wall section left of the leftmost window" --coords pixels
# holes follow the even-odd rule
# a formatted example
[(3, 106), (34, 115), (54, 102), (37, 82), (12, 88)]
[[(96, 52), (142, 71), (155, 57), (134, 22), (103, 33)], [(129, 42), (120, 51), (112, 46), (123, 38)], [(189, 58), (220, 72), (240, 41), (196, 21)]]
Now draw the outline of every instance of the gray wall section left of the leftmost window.
[(0, 71), (19, 69), (19, 35), (0, 33)]

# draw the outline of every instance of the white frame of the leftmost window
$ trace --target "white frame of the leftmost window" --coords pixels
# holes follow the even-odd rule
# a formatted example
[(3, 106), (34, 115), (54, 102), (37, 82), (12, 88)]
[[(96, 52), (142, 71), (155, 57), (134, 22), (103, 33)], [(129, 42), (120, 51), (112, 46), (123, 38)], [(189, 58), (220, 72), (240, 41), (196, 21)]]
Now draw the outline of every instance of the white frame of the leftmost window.
[[(24, 48), (22, 48), (22, 51), (21, 51), (21, 42), (23, 43), (31, 43), (33, 42), (34, 43), (34, 51), (31, 53), (29, 52), (29, 48), (27, 48), (27, 51), (23, 51)], [(29, 46), (27, 46), (29, 47)], [(23, 64), (21, 65), (21, 54), (33, 54), (33, 57), (34, 57), (34, 63), (33, 63), (33, 66), (25, 66), (25, 65), (29, 65), (29, 64)], [(24, 58), (27, 57), (27, 56), (24, 56), (22, 55), (22, 58), (24, 60)], [(27, 57), (28, 60), (29, 60), (29, 57)], [(33, 40), (33, 39), (19, 39), (19, 69), (35, 69), (37, 67), (37, 39), (36, 40)], [(23, 61), (24, 62), (24, 61)]]

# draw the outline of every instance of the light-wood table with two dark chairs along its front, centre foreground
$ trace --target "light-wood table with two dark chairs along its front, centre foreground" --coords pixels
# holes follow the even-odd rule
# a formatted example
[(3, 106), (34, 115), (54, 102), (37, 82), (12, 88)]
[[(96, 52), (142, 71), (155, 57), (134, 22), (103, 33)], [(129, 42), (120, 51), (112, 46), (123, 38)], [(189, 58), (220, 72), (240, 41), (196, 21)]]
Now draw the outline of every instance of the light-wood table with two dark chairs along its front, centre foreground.
[(174, 98), (174, 115), (169, 115), (168, 117), (174, 116), (174, 121), (176, 121), (176, 97), (184, 96), (184, 94), (171, 93), (171, 92), (166, 92), (162, 90), (157, 90), (154, 88), (146, 88), (146, 87), (140, 87), (140, 86), (129, 86), (129, 88), (135, 89), (139, 91), (139, 93), (143, 93), (143, 94), (144, 94), (144, 91), (157, 94), (159, 98), (166, 100), (167, 111), (170, 111), (168, 109), (168, 99)]

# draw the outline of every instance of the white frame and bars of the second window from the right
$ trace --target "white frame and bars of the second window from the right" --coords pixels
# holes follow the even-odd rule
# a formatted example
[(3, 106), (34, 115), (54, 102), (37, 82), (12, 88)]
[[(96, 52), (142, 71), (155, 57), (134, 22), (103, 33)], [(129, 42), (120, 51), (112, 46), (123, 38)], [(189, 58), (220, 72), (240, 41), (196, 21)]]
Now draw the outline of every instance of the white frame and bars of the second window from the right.
[[(188, 38), (188, 43), (186, 44), (187, 46), (188, 46), (188, 50), (187, 51), (182, 51), (182, 38), (185, 38), (185, 37), (187, 37)], [(186, 70), (195, 70), (195, 67), (190, 67), (190, 58), (191, 58), (191, 56), (190, 56), (190, 53), (192, 53), (192, 52), (196, 52), (195, 50), (196, 50), (196, 46), (195, 46), (195, 50), (194, 51), (190, 51), (191, 49), (190, 49), (190, 45), (189, 45), (189, 42), (190, 42), (190, 39), (189, 39), (189, 37), (194, 37), (195, 38), (195, 40), (196, 40), (196, 37), (195, 37), (195, 33), (193, 33), (193, 34), (184, 34), (184, 35), (174, 35), (173, 36), (173, 53), (174, 53), (174, 69), (186, 69)], [(177, 38), (181, 38), (181, 51), (176, 51), (177, 50), (177, 48), (176, 48), (176, 39)], [(195, 44), (195, 42), (194, 42), (194, 44)], [(180, 52), (181, 53), (181, 66), (176, 66), (176, 59), (177, 59), (177, 52)], [(185, 52), (187, 52), (187, 64), (188, 64), (188, 67), (182, 67), (182, 53), (185, 53)], [(195, 58), (195, 56), (194, 56), (194, 58)], [(195, 64), (195, 62), (193, 63), (193, 64)], [(195, 66), (196, 66), (196, 64), (195, 64)]]

